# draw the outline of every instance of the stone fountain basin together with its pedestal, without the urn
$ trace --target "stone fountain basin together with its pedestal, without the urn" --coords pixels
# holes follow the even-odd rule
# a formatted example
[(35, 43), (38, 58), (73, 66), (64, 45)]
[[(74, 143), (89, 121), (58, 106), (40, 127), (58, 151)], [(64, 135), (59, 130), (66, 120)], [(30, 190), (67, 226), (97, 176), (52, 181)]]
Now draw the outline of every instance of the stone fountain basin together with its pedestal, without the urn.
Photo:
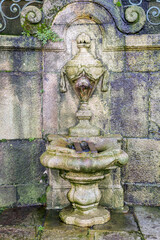
[[(71, 183), (68, 199), (72, 206), (62, 209), (60, 218), (67, 224), (81, 227), (103, 224), (110, 213), (98, 206), (101, 191), (98, 183), (109, 171), (127, 163), (128, 155), (121, 150), (121, 137), (69, 137), (50, 135), (50, 144), (40, 161), (48, 168), (59, 169), (60, 175)], [(77, 153), (69, 147), (73, 142), (92, 142), (97, 152)]]

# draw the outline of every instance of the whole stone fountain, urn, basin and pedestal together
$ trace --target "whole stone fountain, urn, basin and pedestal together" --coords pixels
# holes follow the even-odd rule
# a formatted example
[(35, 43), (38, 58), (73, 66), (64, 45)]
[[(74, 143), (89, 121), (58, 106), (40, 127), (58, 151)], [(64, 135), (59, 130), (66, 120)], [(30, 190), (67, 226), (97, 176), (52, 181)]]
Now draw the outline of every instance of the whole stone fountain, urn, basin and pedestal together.
[(99, 206), (98, 183), (110, 170), (128, 161), (117, 136), (105, 135), (90, 123), (89, 98), (99, 81), (101, 90), (107, 91), (108, 79), (108, 71), (91, 54), (90, 45), (90, 37), (81, 33), (77, 37), (78, 53), (61, 70), (61, 92), (67, 91), (68, 80), (80, 99), (78, 124), (69, 128), (67, 136), (49, 135), (50, 144), (41, 156), (42, 165), (60, 170), (61, 177), (71, 183), (68, 192), (71, 205), (61, 210), (61, 220), (82, 227), (109, 221), (110, 212)]

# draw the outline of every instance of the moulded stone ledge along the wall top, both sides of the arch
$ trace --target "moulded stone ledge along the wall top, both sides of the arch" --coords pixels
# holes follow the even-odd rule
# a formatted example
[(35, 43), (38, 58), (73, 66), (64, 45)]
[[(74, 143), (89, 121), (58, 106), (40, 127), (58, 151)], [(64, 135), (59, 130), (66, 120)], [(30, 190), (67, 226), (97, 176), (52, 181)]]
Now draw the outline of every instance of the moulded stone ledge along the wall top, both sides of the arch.
[[(0, 49), (34, 49), (44, 51), (65, 51), (64, 42), (49, 42), (44, 47), (34, 37), (1, 35)], [(133, 51), (133, 50), (158, 50), (160, 49), (160, 34), (128, 35), (124, 37), (124, 46), (104, 46), (104, 52)]]

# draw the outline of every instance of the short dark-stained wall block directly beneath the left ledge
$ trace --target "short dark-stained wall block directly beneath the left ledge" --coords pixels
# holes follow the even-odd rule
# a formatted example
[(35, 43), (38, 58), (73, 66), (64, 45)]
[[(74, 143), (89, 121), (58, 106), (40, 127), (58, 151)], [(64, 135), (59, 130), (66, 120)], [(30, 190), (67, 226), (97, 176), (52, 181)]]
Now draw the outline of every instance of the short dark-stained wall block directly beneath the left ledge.
[(0, 51), (0, 71), (41, 71), (40, 51)]

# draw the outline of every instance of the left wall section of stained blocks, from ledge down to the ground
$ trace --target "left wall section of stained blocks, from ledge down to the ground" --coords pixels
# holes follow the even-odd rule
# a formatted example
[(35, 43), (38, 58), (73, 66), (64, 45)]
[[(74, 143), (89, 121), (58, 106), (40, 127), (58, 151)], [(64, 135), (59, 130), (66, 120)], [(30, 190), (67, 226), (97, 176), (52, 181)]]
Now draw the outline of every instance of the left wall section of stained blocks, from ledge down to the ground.
[[(0, 38), (0, 206), (41, 202), (42, 53), (34, 39)], [(42, 182), (42, 183), (41, 183)]]

